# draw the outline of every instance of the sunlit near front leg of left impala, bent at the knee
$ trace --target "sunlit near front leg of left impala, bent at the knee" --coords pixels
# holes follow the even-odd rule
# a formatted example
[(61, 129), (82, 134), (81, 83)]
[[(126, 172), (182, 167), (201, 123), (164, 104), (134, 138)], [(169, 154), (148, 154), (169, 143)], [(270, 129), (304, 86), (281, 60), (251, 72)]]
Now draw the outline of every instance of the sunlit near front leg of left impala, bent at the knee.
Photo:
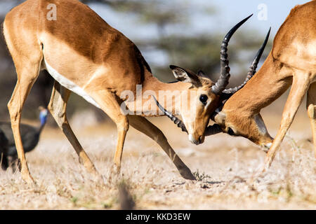
[(117, 148), (114, 155), (114, 164), (119, 172), (121, 169), (121, 155), (123, 153), (124, 141), (126, 133), (129, 130), (129, 120), (123, 113), (121, 113), (117, 98), (112, 92), (100, 90), (98, 92), (93, 92), (91, 97), (98, 102), (100, 109), (102, 109), (117, 125)]

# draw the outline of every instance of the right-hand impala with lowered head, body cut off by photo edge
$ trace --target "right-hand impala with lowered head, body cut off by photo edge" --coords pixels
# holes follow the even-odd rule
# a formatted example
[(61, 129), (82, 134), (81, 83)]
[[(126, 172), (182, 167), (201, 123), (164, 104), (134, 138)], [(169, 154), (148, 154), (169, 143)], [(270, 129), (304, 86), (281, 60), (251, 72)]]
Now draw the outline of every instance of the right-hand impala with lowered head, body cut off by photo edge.
[[(211, 116), (216, 124), (206, 128), (206, 136), (225, 132), (246, 137), (255, 144), (270, 148), (261, 172), (270, 167), (306, 93), (306, 109), (316, 156), (315, 12), (315, 0), (291, 10), (277, 31), (272, 50), (261, 69), (254, 75), (256, 69), (253, 64), (242, 85), (223, 91), (222, 105)], [(273, 140), (260, 111), (280, 97), (290, 85), (291, 91), (284, 106), (281, 124)]]

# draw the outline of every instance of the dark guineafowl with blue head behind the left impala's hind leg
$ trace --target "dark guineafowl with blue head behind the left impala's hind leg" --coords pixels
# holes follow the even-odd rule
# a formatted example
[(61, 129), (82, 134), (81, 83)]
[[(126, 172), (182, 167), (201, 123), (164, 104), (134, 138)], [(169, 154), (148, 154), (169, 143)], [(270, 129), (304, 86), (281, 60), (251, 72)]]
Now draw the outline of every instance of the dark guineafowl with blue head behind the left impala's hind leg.
[[(22, 145), (25, 153), (32, 151), (39, 143), (44, 126), (46, 125), (48, 110), (43, 106), (39, 106), (40, 125), (34, 127), (32, 125), (20, 124), (20, 134)], [(11, 123), (0, 122), (0, 162), (3, 170), (8, 169), (10, 164), (14, 164), (18, 159), (18, 153), (15, 148), (15, 141), (11, 129)], [(9, 160), (10, 164), (9, 164)]]

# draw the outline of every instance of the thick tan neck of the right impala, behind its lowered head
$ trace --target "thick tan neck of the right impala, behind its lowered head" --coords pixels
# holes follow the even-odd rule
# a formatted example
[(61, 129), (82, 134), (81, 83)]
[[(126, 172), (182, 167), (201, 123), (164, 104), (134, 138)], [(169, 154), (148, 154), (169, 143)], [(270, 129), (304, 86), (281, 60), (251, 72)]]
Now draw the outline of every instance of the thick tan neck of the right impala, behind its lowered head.
[(289, 88), (291, 82), (289, 69), (273, 59), (270, 52), (256, 75), (228, 99), (223, 106), (223, 111), (226, 113), (233, 111), (240, 116), (257, 114), (281, 96)]

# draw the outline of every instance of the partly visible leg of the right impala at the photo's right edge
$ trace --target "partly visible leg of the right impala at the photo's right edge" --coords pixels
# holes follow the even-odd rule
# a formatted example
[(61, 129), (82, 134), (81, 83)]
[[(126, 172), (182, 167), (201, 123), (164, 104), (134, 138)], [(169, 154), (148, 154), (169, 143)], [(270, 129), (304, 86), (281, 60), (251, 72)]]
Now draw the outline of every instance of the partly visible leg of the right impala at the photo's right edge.
[(310, 118), (310, 126), (312, 127), (312, 140), (316, 158), (316, 83), (312, 83), (308, 88), (306, 109), (308, 111), (308, 117)]

